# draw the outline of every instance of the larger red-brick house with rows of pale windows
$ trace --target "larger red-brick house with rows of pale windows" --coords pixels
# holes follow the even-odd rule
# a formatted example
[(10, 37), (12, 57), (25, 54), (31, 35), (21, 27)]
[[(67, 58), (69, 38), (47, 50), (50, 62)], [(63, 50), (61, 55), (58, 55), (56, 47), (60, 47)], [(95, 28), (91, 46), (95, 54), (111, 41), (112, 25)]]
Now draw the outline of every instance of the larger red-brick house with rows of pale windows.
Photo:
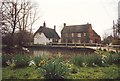
[(92, 29), (92, 25), (87, 23), (83, 25), (66, 26), (61, 31), (62, 43), (100, 43), (101, 37)]

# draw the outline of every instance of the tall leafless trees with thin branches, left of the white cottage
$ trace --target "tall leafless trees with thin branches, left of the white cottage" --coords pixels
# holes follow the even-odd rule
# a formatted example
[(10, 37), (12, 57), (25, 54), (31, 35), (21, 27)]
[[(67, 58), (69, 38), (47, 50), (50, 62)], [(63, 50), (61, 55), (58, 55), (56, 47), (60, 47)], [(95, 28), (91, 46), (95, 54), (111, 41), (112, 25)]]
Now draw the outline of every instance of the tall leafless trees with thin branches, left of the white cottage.
[[(2, 34), (11, 34), (11, 44), (14, 45), (14, 34), (19, 33), (19, 45), (22, 46), (26, 33), (32, 33), (32, 27), (37, 17), (37, 6), (28, 0), (4, 0), (1, 5)], [(29, 37), (29, 36), (28, 36)]]

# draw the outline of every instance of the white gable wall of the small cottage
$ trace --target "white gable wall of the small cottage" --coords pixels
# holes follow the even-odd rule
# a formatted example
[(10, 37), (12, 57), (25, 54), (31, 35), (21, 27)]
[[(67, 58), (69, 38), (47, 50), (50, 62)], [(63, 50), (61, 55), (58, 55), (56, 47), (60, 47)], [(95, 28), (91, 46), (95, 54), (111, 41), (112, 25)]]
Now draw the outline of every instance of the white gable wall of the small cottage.
[(34, 36), (34, 44), (44, 44), (46, 45), (47, 43), (52, 42), (52, 39), (48, 39), (46, 38), (46, 36), (44, 35), (44, 33), (37, 33)]

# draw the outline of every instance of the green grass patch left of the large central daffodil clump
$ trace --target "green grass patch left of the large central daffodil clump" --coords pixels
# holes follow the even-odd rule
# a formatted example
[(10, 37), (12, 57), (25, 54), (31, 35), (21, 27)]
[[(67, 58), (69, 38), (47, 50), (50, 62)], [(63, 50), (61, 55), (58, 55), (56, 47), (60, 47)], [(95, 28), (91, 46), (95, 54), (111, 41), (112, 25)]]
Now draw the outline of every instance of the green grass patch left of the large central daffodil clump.
[(19, 69), (11, 69), (11, 67), (5, 67), (2, 69), (3, 79), (38, 79), (42, 78), (34, 67), (26, 67)]

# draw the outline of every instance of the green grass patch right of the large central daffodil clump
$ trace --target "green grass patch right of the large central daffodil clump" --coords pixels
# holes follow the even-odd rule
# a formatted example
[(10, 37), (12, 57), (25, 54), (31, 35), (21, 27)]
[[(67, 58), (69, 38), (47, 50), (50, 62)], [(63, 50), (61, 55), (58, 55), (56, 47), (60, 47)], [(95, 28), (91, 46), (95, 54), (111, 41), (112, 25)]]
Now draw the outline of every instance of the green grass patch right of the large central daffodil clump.
[(69, 79), (120, 79), (118, 71), (120, 68), (116, 65), (110, 65), (109, 67), (77, 67), (78, 72), (76, 74), (70, 73), (67, 77)]

